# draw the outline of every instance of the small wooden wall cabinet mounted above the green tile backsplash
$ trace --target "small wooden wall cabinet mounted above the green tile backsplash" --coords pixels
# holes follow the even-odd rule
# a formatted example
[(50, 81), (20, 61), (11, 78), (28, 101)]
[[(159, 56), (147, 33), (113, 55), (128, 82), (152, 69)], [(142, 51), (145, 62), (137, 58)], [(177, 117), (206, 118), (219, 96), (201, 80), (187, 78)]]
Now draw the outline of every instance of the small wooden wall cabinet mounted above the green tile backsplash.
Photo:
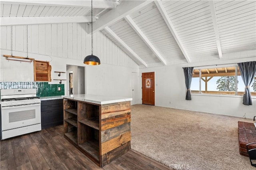
[(51, 81), (49, 61), (34, 60), (34, 81)]

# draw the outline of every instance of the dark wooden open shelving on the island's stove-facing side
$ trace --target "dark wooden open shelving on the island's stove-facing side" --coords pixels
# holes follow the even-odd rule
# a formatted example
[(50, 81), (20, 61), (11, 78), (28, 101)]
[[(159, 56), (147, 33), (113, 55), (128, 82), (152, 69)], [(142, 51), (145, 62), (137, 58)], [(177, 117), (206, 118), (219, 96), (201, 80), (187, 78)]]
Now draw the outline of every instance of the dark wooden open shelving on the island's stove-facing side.
[(99, 105), (64, 99), (64, 136), (100, 166)]

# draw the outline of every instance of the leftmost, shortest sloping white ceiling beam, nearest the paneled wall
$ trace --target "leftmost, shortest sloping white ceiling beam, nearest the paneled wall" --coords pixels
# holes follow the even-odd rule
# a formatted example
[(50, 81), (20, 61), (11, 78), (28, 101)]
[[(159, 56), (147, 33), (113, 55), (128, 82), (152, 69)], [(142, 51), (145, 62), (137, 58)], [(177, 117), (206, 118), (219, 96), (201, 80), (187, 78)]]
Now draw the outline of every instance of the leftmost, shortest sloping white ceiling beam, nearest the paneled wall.
[(148, 64), (145, 63), (121, 38), (119, 38), (109, 27), (104, 28), (108, 34), (110, 34), (117, 42), (119, 42), (129, 53), (131, 53), (136, 59), (140, 61), (145, 67), (148, 67)]

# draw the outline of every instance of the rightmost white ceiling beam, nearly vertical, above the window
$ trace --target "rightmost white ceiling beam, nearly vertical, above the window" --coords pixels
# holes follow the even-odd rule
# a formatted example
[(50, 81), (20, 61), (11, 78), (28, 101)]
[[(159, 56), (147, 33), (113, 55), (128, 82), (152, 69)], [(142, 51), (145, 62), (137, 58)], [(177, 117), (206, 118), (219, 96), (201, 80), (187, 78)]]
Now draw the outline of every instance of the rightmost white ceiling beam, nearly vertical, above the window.
[(221, 51), (221, 45), (220, 45), (220, 34), (219, 34), (218, 22), (217, 22), (217, 18), (216, 18), (216, 10), (215, 10), (214, 0), (209, 1), (209, 4), (210, 4), (210, 10), (212, 13), (212, 22), (213, 22), (213, 27), (214, 27), (214, 32), (215, 32), (218, 53), (219, 53), (220, 59), (222, 59), (222, 51)]

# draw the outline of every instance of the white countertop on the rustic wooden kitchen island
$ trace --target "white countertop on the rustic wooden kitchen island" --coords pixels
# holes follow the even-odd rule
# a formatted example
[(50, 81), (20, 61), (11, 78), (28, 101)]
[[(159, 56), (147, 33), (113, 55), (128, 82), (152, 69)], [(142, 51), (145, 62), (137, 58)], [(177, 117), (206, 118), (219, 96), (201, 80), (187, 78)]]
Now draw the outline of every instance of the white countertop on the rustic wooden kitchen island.
[(88, 95), (88, 94), (68, 95), (68, 96), (62, 96), (62, 97), (66, 99), (74, 99), (77, 101), (85, 101), (88, 103), (94, 103), (99, 105), (124, 102), (124, 101), (132, 101), (132, 98), (128, 98), (128, 97), (100, 96), (100, 95)]

